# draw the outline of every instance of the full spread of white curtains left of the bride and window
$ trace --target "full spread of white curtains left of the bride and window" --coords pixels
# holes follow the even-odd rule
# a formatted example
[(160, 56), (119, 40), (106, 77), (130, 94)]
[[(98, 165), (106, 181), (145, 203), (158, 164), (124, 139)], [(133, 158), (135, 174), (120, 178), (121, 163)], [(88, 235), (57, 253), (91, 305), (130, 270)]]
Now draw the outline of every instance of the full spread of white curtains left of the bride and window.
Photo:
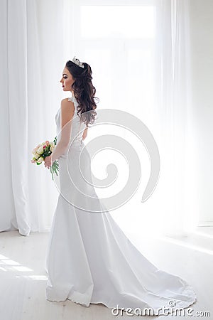
[(1, 12), (0, 230), (49, 230), (57, 192), (32, 148), (55, 137), (60, 107), (61, 1), (4, 0)]

